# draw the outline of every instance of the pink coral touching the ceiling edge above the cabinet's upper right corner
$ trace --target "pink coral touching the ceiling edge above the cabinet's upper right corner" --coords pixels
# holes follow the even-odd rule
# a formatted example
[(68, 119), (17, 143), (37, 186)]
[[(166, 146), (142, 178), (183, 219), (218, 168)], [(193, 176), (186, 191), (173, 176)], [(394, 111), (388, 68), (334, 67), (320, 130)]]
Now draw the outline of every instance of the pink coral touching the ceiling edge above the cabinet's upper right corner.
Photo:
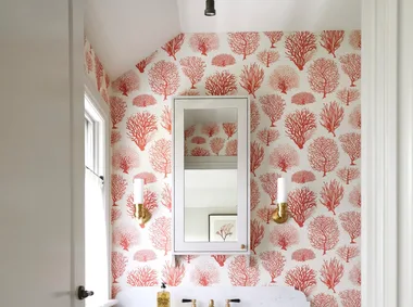
[(228, 43), (234, 53), (243, 55), (246, 60), (247, 55), (254, 53), (260, 46), (260, 34), (256, 31), (229, 33)]

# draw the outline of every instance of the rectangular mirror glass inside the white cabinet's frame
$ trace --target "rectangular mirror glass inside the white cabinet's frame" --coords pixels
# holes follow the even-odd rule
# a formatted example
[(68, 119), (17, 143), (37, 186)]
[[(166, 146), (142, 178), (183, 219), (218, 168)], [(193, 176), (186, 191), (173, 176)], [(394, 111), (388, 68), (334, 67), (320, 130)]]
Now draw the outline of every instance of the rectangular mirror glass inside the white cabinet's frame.
[(237, 241), (237, 110), (185, 110), (185, 241)]

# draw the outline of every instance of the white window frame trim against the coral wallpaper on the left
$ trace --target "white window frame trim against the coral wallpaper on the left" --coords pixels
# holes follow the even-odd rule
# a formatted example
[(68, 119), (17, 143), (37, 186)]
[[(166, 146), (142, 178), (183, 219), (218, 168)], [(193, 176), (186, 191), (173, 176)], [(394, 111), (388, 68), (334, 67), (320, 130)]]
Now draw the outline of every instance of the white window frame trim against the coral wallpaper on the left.
[[(99, 307), (110, 307), (114, 306), (117, 302), (111, 299), (112, 297), (112, 272), (111, 272), (111, 251), (112, 251), (112, 225), (111, 225), (111, 202), (110, 202), (110, 187), (111, 187), (111, 152), (110, 152), (110, 136), (111, 136), (111, 126), (110, 126), (110, 108), (109, 105), (103, 101), (101, 94), (96, 89), (96, 86), (91, 82), (89, 77), (85, 75), (85, 115), (91, 117), (91, 120), (95, 121), (95, 148), (98, 151), (95, 151), (95, 161), (97, 162), (93, 166), (93, 171), (99, 176), (103, 176), (103, 200), (105, 206), (105, 217), (108, 226), (108, 303)], [(89, 103), (86, 103), (88, 99)], [(98, 307), (98, 306), (97, 306)]]

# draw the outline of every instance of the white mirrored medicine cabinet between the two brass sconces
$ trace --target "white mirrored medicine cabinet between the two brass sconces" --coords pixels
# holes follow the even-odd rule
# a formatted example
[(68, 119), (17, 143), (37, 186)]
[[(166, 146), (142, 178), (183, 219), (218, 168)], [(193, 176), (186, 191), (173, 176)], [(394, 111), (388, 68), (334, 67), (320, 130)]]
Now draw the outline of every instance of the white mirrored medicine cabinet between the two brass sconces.
[(174, 254), (248, 254), (249, 100), (174, 100)]

